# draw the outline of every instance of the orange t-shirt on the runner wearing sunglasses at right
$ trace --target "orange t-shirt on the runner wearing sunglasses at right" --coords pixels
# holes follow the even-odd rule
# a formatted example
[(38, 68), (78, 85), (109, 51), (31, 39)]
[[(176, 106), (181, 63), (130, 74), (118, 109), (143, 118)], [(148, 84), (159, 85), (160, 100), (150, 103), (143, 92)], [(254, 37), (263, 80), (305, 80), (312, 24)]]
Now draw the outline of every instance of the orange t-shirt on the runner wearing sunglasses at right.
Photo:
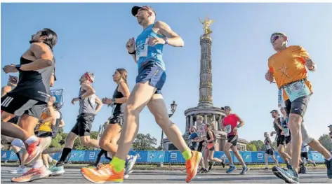
[[(307, 78), (305, 57), (309, 57), (309, 55), (303, 47), (292, 45), (269, 58), (269, 71), (273, 73), (278, 88), (296, 80)], [(310, 92), (312, 92), (310, 81), (305, 80), (305, 84), (309, 87)], [(286, 101), (288, 96), (285, 91), (283, 94), (284, 101)]]

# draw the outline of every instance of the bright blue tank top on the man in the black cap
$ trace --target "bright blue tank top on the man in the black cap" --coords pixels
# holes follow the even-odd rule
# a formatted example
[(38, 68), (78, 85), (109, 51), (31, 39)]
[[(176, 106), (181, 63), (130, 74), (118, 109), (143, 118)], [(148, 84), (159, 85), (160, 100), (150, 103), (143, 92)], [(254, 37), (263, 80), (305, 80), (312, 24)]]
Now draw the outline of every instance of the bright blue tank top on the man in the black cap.
[(159, 37), (163, 38), (160, 34), (156, 34), (152, 28), (154, 24), (151, 24), (145, 28), (140, 35), (136, 38), (136, 60), (138, 64), (138, 69), (142, 66), (144, 62), (154, 62), (157, 66), (160, 66), (161, 69), (166, 70), (165, 63), (163, 61), (163, 48), (164, 45), (157, 44), (150, 46), (148, 44), (150, 37)]

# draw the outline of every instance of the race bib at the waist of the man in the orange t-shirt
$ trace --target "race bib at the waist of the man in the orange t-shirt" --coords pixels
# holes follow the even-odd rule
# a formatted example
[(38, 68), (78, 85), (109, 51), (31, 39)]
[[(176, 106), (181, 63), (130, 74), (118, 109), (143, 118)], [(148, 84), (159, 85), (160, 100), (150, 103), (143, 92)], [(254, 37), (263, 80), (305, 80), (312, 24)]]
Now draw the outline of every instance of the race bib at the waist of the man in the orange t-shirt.
[(311, 94), (309, 87), (305, 84), (305, 81), (301, 80), (291, 85), (284, 87), (287, 96), (290, 101), (294, 101), (300, 97), (309, 96)]

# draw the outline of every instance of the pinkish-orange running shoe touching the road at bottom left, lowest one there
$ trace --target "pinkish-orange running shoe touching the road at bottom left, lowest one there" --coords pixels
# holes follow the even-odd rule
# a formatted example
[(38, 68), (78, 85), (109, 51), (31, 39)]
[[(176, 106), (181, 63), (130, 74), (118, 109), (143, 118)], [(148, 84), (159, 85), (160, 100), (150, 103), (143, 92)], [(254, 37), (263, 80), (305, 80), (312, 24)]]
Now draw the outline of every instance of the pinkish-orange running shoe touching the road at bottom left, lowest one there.
[(29, 181), (35, 181), (42, 178), (47, 178), (51, 174), (51, 171), (48, 171), (45, 166), (38, 168), (38, 169), (30, 169), (22, 176), (18, 176), (17, 178), (12, 178), (12, 182), (29, 182)]

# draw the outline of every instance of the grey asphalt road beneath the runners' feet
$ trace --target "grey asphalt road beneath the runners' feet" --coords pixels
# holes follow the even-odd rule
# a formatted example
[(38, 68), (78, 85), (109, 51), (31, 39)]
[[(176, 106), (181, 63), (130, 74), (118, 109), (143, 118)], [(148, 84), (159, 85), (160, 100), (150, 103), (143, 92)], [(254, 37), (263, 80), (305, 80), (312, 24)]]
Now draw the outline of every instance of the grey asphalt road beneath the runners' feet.
[[(9, 174), (14, 167), (1, 167), (1, 183), (11, 183), (11, 178), (19, 174)], [(198, 174), (191, 183), (284, 183), (272, 174), (272, 171), (248, 171), (244, 176), (239, 175), (239, 169), (234, 174), (225, 171), (211, 171), (208, 174)], [(185, 183), (184, 171), (137, 170), (124, 183)], [(44, 178), (33, 183), (90, 183), (79, 169), (66, 169), (62, 176)], [(300, 175), (300, 183), (332, 183), (326, 176), (326, 170), (309, 170)]]

